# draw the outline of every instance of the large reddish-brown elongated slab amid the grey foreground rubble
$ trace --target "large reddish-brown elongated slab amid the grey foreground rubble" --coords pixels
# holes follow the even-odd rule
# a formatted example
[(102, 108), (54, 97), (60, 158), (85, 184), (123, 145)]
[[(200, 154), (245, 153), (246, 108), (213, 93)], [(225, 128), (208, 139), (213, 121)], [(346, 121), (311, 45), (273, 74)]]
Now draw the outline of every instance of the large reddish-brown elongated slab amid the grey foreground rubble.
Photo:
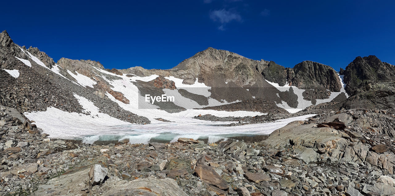
[(213, 167), (198, 165), (195, 168), (195, 173), (200, 177), (201, 181), (209, 185), (214, 185), (222, 190), (228, 189), (228, 184)]

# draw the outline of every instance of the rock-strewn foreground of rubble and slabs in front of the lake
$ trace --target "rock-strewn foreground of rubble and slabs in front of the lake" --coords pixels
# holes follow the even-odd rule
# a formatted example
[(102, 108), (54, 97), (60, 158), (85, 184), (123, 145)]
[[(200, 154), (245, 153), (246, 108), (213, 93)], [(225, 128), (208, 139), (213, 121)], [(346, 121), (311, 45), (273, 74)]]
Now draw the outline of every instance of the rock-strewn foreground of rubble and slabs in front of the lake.
[(395, 194), (393, 110), (316, 115), (256, 143), (86, 145), (46, 138), (9, 107), (0, 119), (2, 194)]

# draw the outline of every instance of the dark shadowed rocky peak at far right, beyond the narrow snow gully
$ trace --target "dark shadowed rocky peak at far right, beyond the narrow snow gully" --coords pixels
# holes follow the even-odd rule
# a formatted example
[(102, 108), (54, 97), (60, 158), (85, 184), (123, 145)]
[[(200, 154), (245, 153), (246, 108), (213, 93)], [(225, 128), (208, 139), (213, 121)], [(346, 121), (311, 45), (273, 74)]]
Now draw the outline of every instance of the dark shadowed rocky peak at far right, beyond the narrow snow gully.
[(376, 81), (395, 79), (395, 66), (382, 62), (374, 55), (357, 57), (343, 71), (348, 94), (354, 95), (356, 89)]

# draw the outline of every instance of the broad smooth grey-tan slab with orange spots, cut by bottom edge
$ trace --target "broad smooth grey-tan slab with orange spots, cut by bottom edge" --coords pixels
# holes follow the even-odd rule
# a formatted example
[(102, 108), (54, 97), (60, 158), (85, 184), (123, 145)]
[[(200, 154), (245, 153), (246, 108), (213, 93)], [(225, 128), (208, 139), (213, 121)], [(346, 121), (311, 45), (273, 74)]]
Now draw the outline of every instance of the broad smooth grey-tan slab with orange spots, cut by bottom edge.
[(171, 196), (187, 196), (187, 194), (177, 185), (176, 181), (170, 178), (139, 178), (133, 181), (117, 181), (111, 183), (111, 187), (103, 196), (113, 195), (171, 195)]

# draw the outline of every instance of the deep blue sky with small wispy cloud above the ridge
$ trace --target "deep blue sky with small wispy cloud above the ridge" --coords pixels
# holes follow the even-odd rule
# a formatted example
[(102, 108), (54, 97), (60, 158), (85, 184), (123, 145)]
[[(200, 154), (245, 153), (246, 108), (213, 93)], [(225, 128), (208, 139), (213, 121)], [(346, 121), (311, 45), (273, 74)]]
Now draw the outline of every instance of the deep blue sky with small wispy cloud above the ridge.
[[(167, 69), (214, 47), (293, 67), (345, 68), (357, 56), (395, 64), (395, 1), (6, 1), (15, 43), (105, 68)], [(7, 9), (5, 9), (7, 8)]]

